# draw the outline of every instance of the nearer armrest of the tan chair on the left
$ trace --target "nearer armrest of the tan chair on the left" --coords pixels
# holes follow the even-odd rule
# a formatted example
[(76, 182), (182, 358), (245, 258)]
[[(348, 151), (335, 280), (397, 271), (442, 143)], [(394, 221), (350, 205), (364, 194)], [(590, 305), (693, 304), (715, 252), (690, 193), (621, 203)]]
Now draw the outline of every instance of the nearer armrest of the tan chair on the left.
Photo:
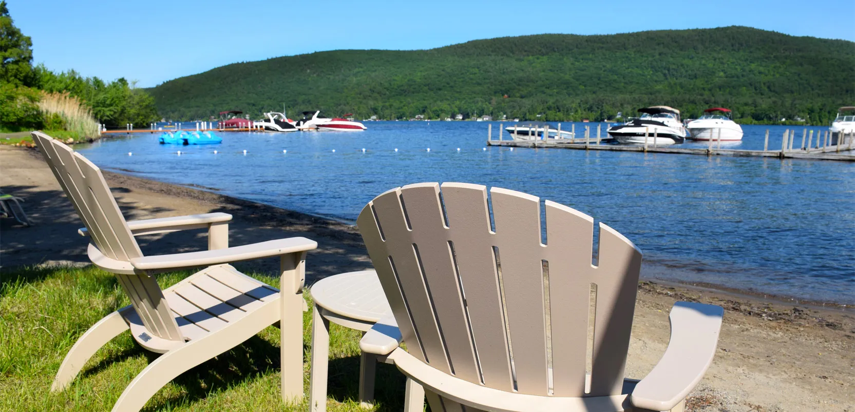
[(136, 257), (131, 259), (131, 264), (133, 268), (138, 270), (193, 268), (247, 261), (262, 257), (281, 256), (289, 253), (313, 250), (317, 247), (317, 242), (307, 238), (282, 238), (226, 249)]

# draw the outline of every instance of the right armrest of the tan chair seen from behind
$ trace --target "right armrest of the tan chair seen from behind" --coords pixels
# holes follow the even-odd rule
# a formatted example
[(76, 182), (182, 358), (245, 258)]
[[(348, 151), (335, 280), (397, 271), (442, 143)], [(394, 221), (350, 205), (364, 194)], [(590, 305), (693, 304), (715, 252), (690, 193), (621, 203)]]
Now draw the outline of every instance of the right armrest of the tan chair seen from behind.
[(632, 393), (634, 406), (670, 410), (694, 389), (716, 355), (722, 328), (721, 306), (677, 302), (669, 315), (671, 339), (668, 349), (650, 374)]

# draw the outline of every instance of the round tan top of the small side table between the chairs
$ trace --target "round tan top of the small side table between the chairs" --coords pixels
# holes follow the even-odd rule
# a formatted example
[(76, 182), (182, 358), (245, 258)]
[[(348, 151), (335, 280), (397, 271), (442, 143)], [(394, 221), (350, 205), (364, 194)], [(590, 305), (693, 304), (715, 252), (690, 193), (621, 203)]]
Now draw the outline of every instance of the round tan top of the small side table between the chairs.
[(315, 304), (337, 315), (375, 323), (392, 314), (374, 270), (336, 274), (315, 282)]

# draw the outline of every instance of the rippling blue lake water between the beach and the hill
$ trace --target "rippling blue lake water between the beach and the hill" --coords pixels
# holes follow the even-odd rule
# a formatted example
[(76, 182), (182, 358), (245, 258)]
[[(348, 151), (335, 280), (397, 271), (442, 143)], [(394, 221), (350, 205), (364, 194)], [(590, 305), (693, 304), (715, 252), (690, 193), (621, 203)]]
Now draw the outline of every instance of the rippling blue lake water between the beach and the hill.
[[(492, 125), (496, 133), (499, 124)], [(365, 132), (222, 132), (223, 143), (211, 146), (161, 145), (156, 134), (139, 134), (76, 149), (105, 169), (351, 222), (374, 196), (398, 185), (495, 185), (567, 204), (614, 227), (644, 252), (646, 277), (855, 303), (855, 164), (484, 150), (486, 122), (366, 126)], [(595, 134), (596, 123), (576, 123), (577, 136), (584, 126)], [(786, 128), (745, 126), (743, 142), (727, 147), (762, 150), (769, 129), (769, 148), (780, 150)], [(796, 130), (800, 146), (802, 129)]]

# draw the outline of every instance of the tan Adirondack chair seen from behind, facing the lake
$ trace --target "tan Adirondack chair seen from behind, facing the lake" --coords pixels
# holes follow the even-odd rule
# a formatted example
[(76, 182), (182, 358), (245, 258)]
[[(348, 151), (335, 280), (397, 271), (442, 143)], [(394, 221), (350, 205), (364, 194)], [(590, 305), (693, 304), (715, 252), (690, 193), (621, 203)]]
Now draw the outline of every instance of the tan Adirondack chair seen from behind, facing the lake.
[(594, 266), (591, 216), (546, 201), (544, 244), (538, 197), (492, 188), (492, 229), (486, 187), (439, 188), (386, 191), (359, 215), (394, 313), (363, 351), (421, 384), (434, 411), (682, 409), (715, 355), (721, 307), (676, 303), (663, 358), (625, 380), (640, 250), (600, 224)]

